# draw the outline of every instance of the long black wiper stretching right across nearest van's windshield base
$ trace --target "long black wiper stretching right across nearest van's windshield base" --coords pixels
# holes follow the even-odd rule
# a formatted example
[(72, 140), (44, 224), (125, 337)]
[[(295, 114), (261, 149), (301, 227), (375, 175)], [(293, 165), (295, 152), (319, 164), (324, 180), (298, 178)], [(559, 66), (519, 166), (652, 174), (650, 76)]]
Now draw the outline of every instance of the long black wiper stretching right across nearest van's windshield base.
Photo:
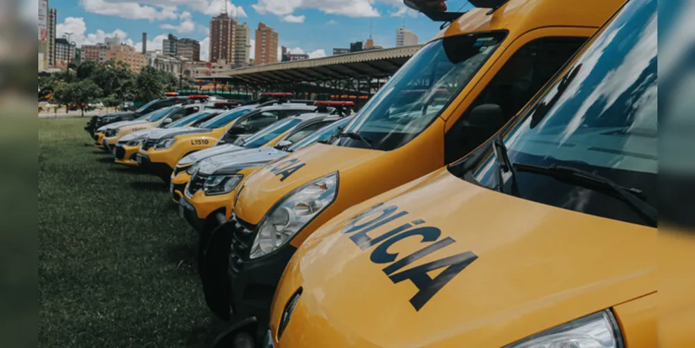
[(631, 207), (637, 209), (637, 212), (653, 223), (653, 226), (657, 226), (657, 219), (659, 217), (659, 212), (657, 209), (644, 201), (644, 195), (640, 189), (635, 189), (633, 187), (623, 187), (616, 184), (613, 180), (607, 177), (603, 177), (598, 174), (594, 174), (588, 171), (582, 171), (581, 169), (572, 168), (568, 166), (558, 166), (552, 164), (550, 166), (536, 166), (534, 164), (525, 163), (515, 163), (514, 167), (517, 171), (524, 171), (529, 173), (536, 173), (541, 175), (549, 175), (552, 177), (557, 177), (563, 180), (572, 180), (575, 182), (584, 182), (586, 184), (594, 184), (600, 186), (603, 189), (610, 189), (614, 193), (617, 193), (620, 198), (623, 198)]

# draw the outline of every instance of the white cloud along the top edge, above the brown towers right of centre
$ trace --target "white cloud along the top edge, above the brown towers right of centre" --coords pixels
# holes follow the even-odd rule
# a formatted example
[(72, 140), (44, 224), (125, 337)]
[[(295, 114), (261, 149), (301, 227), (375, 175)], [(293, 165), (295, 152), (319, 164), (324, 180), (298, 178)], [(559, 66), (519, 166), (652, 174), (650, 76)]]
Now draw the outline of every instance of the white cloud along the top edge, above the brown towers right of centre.
[(291, 15), (299, 8), (315, 8), (329, 15), (348, 17), (379, 17), (379, 11), (372, 6), (373, 0), (258, 0), (252, 5), (261, 15)]

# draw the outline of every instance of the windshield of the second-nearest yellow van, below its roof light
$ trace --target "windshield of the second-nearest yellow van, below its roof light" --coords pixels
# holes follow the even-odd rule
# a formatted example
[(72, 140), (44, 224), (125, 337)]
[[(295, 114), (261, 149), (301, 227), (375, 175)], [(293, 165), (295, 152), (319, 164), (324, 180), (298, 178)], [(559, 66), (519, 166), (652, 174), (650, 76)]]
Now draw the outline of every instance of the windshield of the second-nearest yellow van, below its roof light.
[[(505, 37), (506, 32), (497, 31), (430, 42), (380, 88), (344, 133), (359, 134), (377, 150), (400, 148), (458, 96)], [(337, 139), (335, 144), (369, 147), (349, 137)]]

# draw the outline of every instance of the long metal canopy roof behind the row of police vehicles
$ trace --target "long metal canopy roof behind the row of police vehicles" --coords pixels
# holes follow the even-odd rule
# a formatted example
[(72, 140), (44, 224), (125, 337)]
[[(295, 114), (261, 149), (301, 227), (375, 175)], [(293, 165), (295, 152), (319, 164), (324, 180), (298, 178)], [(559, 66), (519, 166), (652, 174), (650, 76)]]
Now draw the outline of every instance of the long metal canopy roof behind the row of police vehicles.
[(374, 49), (304, 61), (271, 63), (219, 72), (201, 80), (240, 84), (288, 84), (302, 81), (389, 77), (422, 45)]

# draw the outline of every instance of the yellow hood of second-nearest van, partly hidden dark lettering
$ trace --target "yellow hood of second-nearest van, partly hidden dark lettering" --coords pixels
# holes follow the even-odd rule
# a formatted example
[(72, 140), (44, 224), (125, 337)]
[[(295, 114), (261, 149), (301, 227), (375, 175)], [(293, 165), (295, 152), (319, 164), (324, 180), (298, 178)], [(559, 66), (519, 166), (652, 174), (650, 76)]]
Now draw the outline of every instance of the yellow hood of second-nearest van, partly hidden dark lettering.
[(235, 214), (256, 224), (272, 205), (297, 187), (371, 161), (383, 153), (315, 143), (253, 173), (243, 184), (244, 193), (237, 200)]

